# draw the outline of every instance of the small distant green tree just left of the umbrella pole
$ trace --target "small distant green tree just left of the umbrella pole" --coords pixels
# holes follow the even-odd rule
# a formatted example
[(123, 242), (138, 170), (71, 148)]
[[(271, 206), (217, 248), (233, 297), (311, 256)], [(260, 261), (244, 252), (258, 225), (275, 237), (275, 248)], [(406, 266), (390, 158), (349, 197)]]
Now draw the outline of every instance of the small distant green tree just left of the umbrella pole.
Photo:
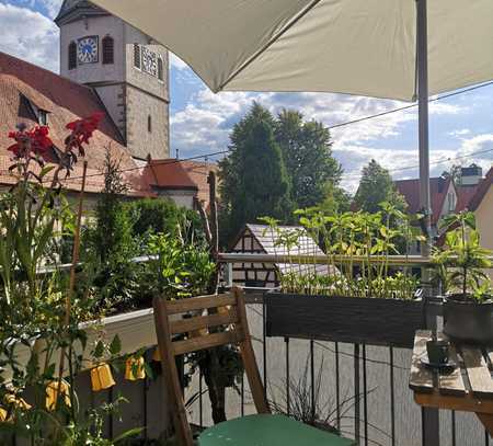
[(387, 169), (371, 160), (363, 168), (359, 187), (354, 197), (358, 209), (368, 213), (381, 210), (380, 203), (388, 202), (399, 210), (406, 208), (404, 197), (397, 191), (392, 176)]

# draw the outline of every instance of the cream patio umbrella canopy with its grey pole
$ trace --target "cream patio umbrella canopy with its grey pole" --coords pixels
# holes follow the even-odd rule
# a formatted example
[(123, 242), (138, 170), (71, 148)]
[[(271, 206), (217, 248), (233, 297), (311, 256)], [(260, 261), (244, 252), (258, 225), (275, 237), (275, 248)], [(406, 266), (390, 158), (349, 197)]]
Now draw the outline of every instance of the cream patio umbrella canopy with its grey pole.
[(428, 94), (493, 79), (492, 0), (92, 2), (167, 46), (214, 92), (417, 99), (420, 193), (427, 210)]

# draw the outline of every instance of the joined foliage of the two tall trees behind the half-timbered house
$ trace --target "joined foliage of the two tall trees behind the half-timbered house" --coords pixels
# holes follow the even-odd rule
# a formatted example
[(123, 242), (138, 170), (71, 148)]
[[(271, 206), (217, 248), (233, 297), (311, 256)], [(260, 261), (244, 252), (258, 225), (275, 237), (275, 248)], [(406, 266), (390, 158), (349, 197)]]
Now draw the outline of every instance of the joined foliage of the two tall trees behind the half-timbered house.
[(259, 216), (290, 222), (296, 208), (347, 208), (339, 187), (342, 169), (323, 124), (290, 110), (275, 117), (254, 103), (230, 140), (231, 153), (219, 163), (222, 242)]

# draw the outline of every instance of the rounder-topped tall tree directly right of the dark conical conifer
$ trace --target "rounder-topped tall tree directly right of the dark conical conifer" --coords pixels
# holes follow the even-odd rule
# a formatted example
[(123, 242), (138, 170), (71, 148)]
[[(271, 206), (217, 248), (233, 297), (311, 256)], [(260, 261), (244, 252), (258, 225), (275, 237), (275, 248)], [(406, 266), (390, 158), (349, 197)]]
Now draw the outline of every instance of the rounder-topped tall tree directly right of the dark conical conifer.
[(341, 180), (342, 168), (332, 157), (329, 129), (316, 121), (303, 122), (297, 111), (283, 110), (275, 123), (275, 136), (290, 179), (295, 206), (307, 208), (330, 199)]

